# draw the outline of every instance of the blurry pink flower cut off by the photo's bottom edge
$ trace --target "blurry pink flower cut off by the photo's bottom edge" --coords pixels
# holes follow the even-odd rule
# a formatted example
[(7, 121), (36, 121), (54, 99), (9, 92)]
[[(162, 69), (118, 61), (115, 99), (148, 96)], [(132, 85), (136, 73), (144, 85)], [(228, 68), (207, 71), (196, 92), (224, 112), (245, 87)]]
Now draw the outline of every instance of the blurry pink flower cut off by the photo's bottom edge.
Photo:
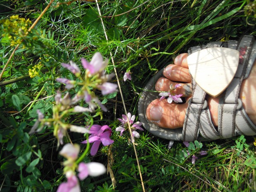
[(67, 182), (59, 185), (57, 192), (81, 192), (77, 177), (71, 172), (66, 173)]

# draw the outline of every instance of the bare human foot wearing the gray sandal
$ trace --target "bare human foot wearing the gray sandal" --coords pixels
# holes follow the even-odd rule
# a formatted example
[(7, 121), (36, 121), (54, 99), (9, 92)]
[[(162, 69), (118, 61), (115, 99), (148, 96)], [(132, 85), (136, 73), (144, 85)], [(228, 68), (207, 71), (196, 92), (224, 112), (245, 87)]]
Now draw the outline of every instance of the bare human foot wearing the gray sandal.
[[(178, 55), (174, 60), (174, 64), (168, 65), (163, 74), (165, 78), (159, 78), (155, 85), (156, 90), (168, 92), (171, 84), (175, 86), (177, 82), (182, 82), (180, 83), (182, 86), (174, 90), (173, 93), (177, 95), (183, 94), (183, 96), (186, 97), (186, 102), (184, 104), (168, 104), (167, 100), (156, 99), (147, 107), (147, 119), (163, 128), (174, 129), (183, 127), (188, 100), (192, 94), (191, 75), (188, 71), (187, 54), (184, 53)], [(253, 99), (253, 96), (256, 94), (255, 82), (256, 61), (254, 62), (249, 77), (242, 82), (239, 93), (239, 98), (242, 100), (243, 107), (254, 124), (256, 124), (256, 100)], [(223, 97), (223, 95), (216, 98), (209, 96), (206, 98), (214, 126), (218, 126), (218, 105), (221, 97)]]

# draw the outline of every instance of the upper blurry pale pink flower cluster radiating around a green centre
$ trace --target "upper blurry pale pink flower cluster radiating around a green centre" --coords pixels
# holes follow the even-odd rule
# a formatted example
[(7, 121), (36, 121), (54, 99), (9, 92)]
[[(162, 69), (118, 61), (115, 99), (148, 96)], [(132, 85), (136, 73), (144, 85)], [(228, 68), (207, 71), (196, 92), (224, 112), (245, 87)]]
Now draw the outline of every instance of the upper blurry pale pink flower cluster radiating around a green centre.
[(74, 88), (76, 84), (83, 85), (83, 88), (81, 88), (77, 95), (72, 99), (71, 104), (75, 104), (83, 99), (89, 104), (90, 109), (94, 110), (96, 103), (100, 105), (103, 111), (107, 111), (106, 107), (101, 104), (99, 99), (95, 95), (91, 94), (88, 87), (90, 86), (92, 88), (101, 90), (102, 95), (107, 95), (116, 91), (118, 86), (114, 83), (108, 82), (111, 80), (114, 74), (104, 73), (104, 69), (108, 65), (108, 60), (103, 60), (103, 57), (99, 52), (96, 52), (95, 55), (93, 55), (90, 62), (84, 58), (81, 58), (81, 64), (83, 68), (86, 69), (85, 79), (81, 77), (79, 67), (72, 61), (69, 63), (70, 64), (62, 63), (62, 66), (71, 71), (71, 73), (83, 81), (83, 83), (77, 83), (76, 81), (72, 81), (67, 78), (57, 78), (56, 81), (64, 83), (66, 85), (66, 89)]

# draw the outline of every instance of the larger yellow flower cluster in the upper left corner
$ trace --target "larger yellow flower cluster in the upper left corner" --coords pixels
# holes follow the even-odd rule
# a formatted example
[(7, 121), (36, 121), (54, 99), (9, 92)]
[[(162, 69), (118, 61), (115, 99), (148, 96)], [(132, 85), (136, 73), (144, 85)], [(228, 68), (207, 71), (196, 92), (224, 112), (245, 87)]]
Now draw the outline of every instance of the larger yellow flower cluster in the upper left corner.
[(28, 32), (28, 26), (31, 24), (29, 19), (20, 18), (19, 15), (13, 15), (9, 19), (0, 20), (2, 24), (2, 37), (7, 37), (11, 46), (21, 44), (21, 39)]

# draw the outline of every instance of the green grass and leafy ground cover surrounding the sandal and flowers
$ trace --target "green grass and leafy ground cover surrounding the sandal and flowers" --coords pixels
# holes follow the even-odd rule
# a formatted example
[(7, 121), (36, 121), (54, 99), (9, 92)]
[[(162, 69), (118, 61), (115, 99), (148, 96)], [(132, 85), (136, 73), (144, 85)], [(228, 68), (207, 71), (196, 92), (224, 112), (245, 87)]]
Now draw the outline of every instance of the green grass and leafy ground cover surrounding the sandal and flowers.
[[(123, 136), (116, 131), (121, 125), (118, 118), (125, 114), (123, 103), (127, 112), (136, 116), (135, 122), (139, 121), (137, 104), (143, 87), (175, 56), (195, 45), (255, 35), (256, 1), (1, 0), (0, 20), (1, 192), (57, 191), (66, 182), (65, 158), (59, 151), (70, 142), (81, 147), (80, 158), (72, 165), (91, 161), (108, 168), (108, 173), (79, 181), (81, 191), (256, 191), (254, 137), (203, 145), (194, 142), (188, 148), (174, 142), (169, 149), (168, 140), (146, 130), (138, 131), (140, 138), (135, 138), (134, 146), (128, 130)], [(91, 77), (83, 68), (81, 57), (90, 61), (96, 52), (109, 59), (107, 74), (116, 70), (109, 81), (117, 84), (119, 79), (123, 101), (120, 91), (102, 95), (103, 88), (95, 82), (105, 81), (104, 76)], [(61, 65), (69, 60), (78, 64), (81, 76)], [(132, 79), (124, 82), (126, 72)], [(57, 78), (68, 78), (75, 87), (67, 90)], [(97, 96), (108, 111), (102, 111), (96, 102), (94, 111), (78, 113), (60, 102), (63, 98), (56, 99), (57, 91), (62, 97), (69, 92), (74, 98), (81, 90)], [(83, 100), (76, 105), (88, 107)], [(44, 117), (38, 117), (38, 109)], [(31, 131), (35, 123), (42, 125), (36, 133)], [(81, 144), (89, 134), (65, 127), (71, 124), (84, 128), (108, 125), (114, 143), (100, 145), (92, 156), (92, 145)], [(58, 131), (66, 134), (64, 145), (59, 145)], [(190, 155), (184, 153), (186, 150)], [(192, 164), (192, 156), (201, 150), (207, 154), (198, 155)]]

